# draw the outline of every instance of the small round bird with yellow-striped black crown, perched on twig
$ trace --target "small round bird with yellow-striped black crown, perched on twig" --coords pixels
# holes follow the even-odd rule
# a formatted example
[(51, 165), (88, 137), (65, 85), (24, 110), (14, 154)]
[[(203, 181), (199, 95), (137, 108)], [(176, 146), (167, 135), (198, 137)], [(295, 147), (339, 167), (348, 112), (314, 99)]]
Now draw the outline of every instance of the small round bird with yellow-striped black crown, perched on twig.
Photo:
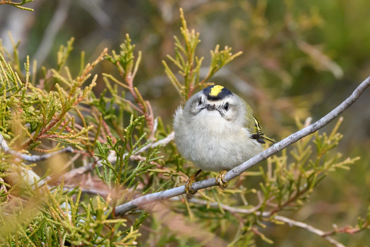
[(220, 85), (212, 85), (194, 94), (179, 106), (174, 115), (176, 146), (198, 170), (185, 184), (189, 199), (195, 194), (192, 184), (202, 171), (219, 172), (216, 184), (223, 190), (229, 182), (228, 170), (262, 151), (268, 138), (253, 115), (252, 108), (238, 95)]

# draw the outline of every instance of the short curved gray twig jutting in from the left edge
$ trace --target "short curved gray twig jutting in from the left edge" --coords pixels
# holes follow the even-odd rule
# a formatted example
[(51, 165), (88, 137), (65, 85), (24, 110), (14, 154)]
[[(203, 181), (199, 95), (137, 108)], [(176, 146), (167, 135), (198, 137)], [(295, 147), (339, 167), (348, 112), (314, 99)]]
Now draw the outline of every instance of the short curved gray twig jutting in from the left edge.
[(14, 157), (22, 160), (26, 160), (28, 162), (40, 162), (43, 160), (46, 160), (54, 155), (57, 155), (59, 153), (71, 153), (73, 152), (73, 148), (67, 147), (60, 149), (58, 151), (52, 152), (52, 153), (46, 153), (43, 155), (27, 155), (26, 153), (20, 153), (14, 150), (11, 150), (8, 146), (8, 143), (6, 143), (3, 135), (0, 133), (0, 146), (4, 150), (5, 153), (13, 155)]

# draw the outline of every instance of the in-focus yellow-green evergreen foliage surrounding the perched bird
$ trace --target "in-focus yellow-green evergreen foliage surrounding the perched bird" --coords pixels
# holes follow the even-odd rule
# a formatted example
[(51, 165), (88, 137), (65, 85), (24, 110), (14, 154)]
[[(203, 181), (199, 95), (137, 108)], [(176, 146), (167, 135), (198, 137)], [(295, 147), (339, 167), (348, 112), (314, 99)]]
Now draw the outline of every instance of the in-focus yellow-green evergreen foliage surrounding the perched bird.
[[(209, 85), (216, 71), (240, 55), (231, 54), (229, 47), (220, 51), (217, 45), (211, 51), (209, 72), (201, 79), (203, 57), (196, 56), (199, 33), (188, 30), (182, 12), (181, 20), (183, 39), (175, 37), (175, 57), (168, 59), (183, 79), (163, 61), (179, 102), (188, 99), (195, 89)], [(269, 223), (282, 223), (274, 218), (276, 214), (304, 207), (327, 173), (348, 169), (358, 159), (343, 159), (334, 153), (342, 138), (337, 133), (340, 120), (330, 135), (315, 133), (313, 141), (312, 136), (299, 140), (290, 151), (284, 150), (267, 165), (259, 165), (259, 170), (231, 181), (225, 191), (208, 188), (189, 201), (176, 197), (118, 216), (115, 206), (142, 194), (183, 185), (195, 168), (181, 158), (172, 142), (141, 151), (170, 135), (171, 127), (154, 117), (150, 102), (134, 86), (145, 54), (135, 53), (129, 36), (119, 52), (109, 55), (104, 50), (91, 64), (84, 64), (82, 53), (81, 70), (74, 76), (66, 66), (72, 45), (73, 39), (60, 48), (57, 68), (43, 68), (41, 78), (36, 73), (30, 75), (28, 57), (22, 72), (16, 46), (14, 55), (0, 47), (0, 132), (10, 148), (20, 152), (52, 152), (73, 146), (83, 157), (80, 163), (84, 163), (85, 173), (99, 179), (107, 193), (96, 196), (99, 193), (94, 193), (93, 187), (90, 193), (94, 195), (88, 196), (78, 182), (75, 189), (68, 189), (63, 179), (59, 185), (48, 187), (47, 173), (24, 187), (20, 181), (11, 184), (14, 181), (9, 173), (32, 166), (2, 150), (0, 242), (4, 246), (149, 246), (153, 239), (160, 246), (201, 246), (208, 237), (212, 241), (223, 239), (228, 246), (252, 246), (256, 237), (273, 243), (262, 231), (270, 227)], [(92, 89), (100, 75), (90, 72), (104, 58), (117, 68), (121, 78), (103, 73), (106, 89), (96, 96)], [(297, 125), (302, 127), (299, 121)], [(209, 175), (203, 173), (198, 179)], [(19, 189), (17, 193), (15, 188)], [(152, 211), (153, 207), (159, 210)], [(171, 219), (165, 221), (168, 217)], [(361, 231), (369, 223), (367, 216), (354, 229)], [(217, 234), (210, 237), (208, 233)], [(141, 234), (145, 237), (140, 238)]]

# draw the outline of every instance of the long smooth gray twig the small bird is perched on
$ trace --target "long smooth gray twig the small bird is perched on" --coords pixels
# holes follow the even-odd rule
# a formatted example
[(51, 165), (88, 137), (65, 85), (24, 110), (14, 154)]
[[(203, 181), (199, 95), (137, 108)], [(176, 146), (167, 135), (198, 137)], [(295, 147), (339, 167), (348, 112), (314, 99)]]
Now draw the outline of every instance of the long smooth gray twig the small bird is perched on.
[[(307, 126), (306, 128), (301, 129), (300, 131), (297, 131), (296, 133), (293, 133), (292, 135), (288, 136), (282, 141), (275, 143), (270, 148), (260, 152), (258, 155), (242, 163), (241, 165), (233, 168), (228, 173), (226, 173), (225, 179), (229, 181), (239, 176), (240, 174), (242, 174), (243, 172), (245, 172), (252, 166), (255, 166), (262, 160), (265, 160), (269, 158), (270, 156), (272, 156), (273, 154), (280, 152), (281, 150), (285, 149), (287, 146), (292, 145), (293, 143), (297, 142), (299, 139), (302, 139), (303, 137), (318, 131), (323, 126), (327, 125), (330, 121), (332, 121), (337, 116), (339, 116), (347, 108), (349, 108), (349, 106), (351, 106), (354, 102), (356, 102), (356, 100), (360, 97), (360, 95), (369, 86), (370, 86), (370, 77), (366, 78), (363, 82), (361, 82), (361, 84), (354, 90), (351, 96), (348, 97), (345, 101), (343, 101), (342, 104), (340, 104), (335, 109), (333, 109), (331, 112), (326, 114), (319, 121)], [(212, 187), (212, 186), (216, 186), (215, 178), (196, 182), (193, 184), (192, 187), (194, 190), (200, 190), (200, 189), (205, 189), (205, 188)], [(157, 193), (147, 194), (145, 196), (138, 197), (128, 203), (117, 206), (115, 209), (115, 214), (116, 216), (124, 215), (128, 211), (132, 209), (136, 209), (137, 207), (141, 207), (146, 204), (153, 203), (153, 202), (158, 202), (160, 200), (166, 200), (171, 197), (179, 196), (184, 193), (185, 193), (184, 186), (180, 186), (180, 187), (176, 187), (173, 189), (169, 189), (169, 190), (165, 190), (165, 191), (161, 191)]]

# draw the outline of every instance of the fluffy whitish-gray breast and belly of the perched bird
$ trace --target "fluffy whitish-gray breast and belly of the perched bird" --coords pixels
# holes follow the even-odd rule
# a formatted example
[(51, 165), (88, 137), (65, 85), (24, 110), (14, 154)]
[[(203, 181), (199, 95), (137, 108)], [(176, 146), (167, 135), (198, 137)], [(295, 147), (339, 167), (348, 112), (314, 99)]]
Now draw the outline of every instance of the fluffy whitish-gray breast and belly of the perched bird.
[(212, 131), (198, 126), (175, 127), (175, 142), (179, 152), (199, 169), (219, 172), (232, 169), (262, 150), (259, 142), (250, 138), (246, 128)]

